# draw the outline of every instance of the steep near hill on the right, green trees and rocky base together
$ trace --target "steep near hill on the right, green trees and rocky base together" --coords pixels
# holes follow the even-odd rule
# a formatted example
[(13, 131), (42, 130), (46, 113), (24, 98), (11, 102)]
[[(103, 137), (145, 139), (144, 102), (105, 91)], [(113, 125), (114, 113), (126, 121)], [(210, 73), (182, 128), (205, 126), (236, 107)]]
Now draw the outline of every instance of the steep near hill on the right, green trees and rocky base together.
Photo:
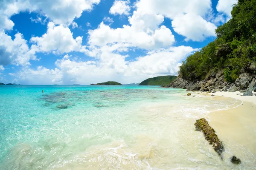
[[(178, 78), (165, 87), (187, 91), (256, 91), (256, 0), (238, 0), (217, 38), (187, 57)], [(163, 86), (164, 87), (164, 86)]]

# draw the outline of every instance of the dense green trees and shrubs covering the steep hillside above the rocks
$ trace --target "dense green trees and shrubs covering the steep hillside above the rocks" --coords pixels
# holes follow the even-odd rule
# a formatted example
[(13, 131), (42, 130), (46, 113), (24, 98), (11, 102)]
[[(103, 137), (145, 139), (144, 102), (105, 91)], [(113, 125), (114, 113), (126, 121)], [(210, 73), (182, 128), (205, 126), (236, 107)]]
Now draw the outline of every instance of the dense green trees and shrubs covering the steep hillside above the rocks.
[(217, 39), (189, 56), (180, 66), (180, 76), (190, 81), (203, 80), (213, 71), (224, 70), (227, 82), (255, 67), (256, 0), (239, 0), (232, 18), (215, 33)]

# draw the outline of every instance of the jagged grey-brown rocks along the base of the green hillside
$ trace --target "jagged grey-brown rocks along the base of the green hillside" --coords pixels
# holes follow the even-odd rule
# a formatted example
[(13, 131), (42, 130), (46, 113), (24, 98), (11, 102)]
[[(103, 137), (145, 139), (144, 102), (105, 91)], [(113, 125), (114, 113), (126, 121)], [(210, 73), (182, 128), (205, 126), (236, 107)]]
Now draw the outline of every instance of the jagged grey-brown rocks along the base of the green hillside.
[[(253, 65), (250, 66), (250, 69), (256, 69)], [(255, 70), (256, 71), (256, 70)], [(209, 74), (202, 81), (189, 81), (184, 80), (181, 77), (178, 77), (171, 84), (166, 86), (161, 86), (165, 88), (183, 88), (186, 91), (241, 91), (241, 93), (250, 94), (250, 92), (256, 92), (256, 74), (253, 72), (242, 73), (239, 78), (236, 79), (234, 83), (229, 83), (225, 81), (223, 71), (219, 71), (217, 74), (213, 71), (212, 74)]]

